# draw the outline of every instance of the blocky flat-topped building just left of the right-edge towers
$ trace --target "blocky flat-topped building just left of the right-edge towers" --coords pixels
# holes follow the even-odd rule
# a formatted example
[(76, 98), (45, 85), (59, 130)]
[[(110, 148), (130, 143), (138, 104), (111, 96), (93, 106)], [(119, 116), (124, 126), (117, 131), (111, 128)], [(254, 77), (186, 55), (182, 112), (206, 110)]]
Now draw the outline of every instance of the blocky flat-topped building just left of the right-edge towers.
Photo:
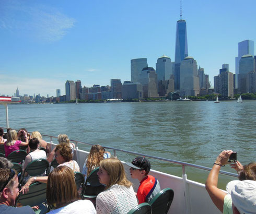
[(223, 97), (234, 97), (233, 73), (226, 71), (215, 76), (214, 91), (215, 93), (222, 94)]

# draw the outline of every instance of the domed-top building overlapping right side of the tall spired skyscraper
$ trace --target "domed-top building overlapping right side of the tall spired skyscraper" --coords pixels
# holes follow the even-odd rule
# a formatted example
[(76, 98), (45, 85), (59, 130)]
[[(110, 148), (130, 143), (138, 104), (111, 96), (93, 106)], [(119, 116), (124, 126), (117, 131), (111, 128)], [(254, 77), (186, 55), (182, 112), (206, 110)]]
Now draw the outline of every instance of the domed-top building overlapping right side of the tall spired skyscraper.
[(198, 94), (200, 94), (200, 85), (197, 64), (193, 57), (187, 56), (180, 64), (180, 96)]

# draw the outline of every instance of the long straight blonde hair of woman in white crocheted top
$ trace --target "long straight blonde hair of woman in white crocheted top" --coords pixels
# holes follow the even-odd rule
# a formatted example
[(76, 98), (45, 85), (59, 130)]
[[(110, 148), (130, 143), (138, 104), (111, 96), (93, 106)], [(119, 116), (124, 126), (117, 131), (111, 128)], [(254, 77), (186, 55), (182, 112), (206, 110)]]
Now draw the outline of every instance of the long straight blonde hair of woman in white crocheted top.
[(108, 189), (114, 184), (124, 185), (126, 187), (132, 186), (132, 183), (126, 178), (124, 166), (119, 159), (103, 159), (100, 161), (100, 167), (106, 170), (109, 175), (109, 183), (105, 189)]

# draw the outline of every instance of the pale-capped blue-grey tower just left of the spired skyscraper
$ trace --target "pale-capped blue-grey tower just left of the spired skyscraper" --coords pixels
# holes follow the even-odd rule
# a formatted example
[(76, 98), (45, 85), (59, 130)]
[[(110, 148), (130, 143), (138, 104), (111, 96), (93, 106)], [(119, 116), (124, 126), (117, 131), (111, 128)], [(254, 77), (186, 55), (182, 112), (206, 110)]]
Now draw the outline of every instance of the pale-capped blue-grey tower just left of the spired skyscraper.
[(158, 81), (170, 79), (172, 75), (172, 63), (169, 56), (162, 55), (157, 59), (156, 74)]

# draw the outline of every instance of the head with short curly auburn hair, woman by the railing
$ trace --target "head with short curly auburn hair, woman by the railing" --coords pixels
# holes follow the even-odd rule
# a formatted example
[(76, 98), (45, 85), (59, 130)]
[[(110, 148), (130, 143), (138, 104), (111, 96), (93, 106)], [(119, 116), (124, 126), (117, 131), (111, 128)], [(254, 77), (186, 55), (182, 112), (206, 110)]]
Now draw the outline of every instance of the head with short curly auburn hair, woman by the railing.
[(61, 164), (72, 160), (72, 149), (69, 144), (62, 142), (55, 148), (55, 156), (57, 163)]

